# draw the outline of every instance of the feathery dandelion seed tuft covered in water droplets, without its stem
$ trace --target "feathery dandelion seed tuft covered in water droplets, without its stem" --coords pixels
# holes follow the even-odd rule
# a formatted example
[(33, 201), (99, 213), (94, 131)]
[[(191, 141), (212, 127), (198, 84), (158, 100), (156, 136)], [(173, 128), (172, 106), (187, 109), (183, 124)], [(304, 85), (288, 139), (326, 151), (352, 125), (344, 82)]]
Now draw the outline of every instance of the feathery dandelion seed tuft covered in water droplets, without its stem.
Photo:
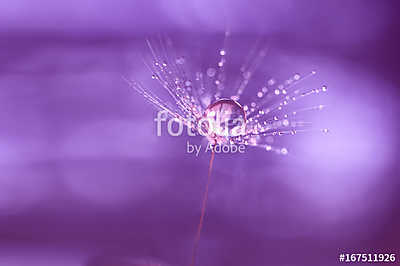
[[(227, 33), (225, 37), (228, 37)], [(267, 54), (266, 48), (253, 49), (248, 60), (240, 67), (234, 90), (226, 89), (226, 55), (225, 48), (218, 51), (219, 60), (216, 67), (209, 67), (204, 72), (191, 72), (186, 66), (186, 59), (174, 53), (169, 39), (153, 44), (147, 42), (152, 58), (146, 66), (152, 78), (168, 92), (171, 100), (161, 100), (155, 89), (146, 89), (137, 81), (128, 81), (158, 108), (184, 123), (193, 132), (204, 131), (198, 121), (208, 118), (214, 124), (207, 138), (213, 144), (244, 144), (260, 147), (266, 151), (287, 154), (285, 147), (273, 146), (274, 138), (282, 135), (296, 135), (308, 131), (310, 123), (297, 119), (303, 112), (322, 110), (324, 105), (316, 105), (292, 110), (288, 108), (294, 102), (313, 94), (327, 91), (327, 87), (299, 89), (300, 82), (316, 74), (315, 71), (302, 76), (294, 74), (283, 83), (271, 78), (255, 92), (253, 101), (240, 104), (241, 96)], [(218, 117), (219, 120), (216, 120)], [(241, 117), (244, 123), (232, 124), (235, 118)], [(222, 119), (222, 120), (221, 120)], [(217, 125), (217, 126), (215, 126)], [(210, 123), (205, 126), (210, 128)], [(328, 129), (319, 129), (327, 133)], [(203, 134), (202, 134), (203, 135)]]

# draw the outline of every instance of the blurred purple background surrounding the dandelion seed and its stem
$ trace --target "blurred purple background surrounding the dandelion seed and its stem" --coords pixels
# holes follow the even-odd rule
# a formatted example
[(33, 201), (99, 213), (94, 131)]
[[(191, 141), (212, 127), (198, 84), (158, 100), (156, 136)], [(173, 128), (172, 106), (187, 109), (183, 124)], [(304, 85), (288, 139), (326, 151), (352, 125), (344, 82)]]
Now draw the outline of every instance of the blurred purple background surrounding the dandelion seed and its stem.
[(192, 66), (210, 66), (225, 25), (238, 58), (270, 38), (261, 73), (318, 70), (308, 85), (328, 85), (329, 108), (314, 119), (331, 134), (283, 140), (289, 156), (217, 156), (198, 265), (400, 256), (398, 9), (361, 0), (2, 1), (0, 265), (188, 265), (209, 158), (186, 154), (185, 137), (156, 137), (154, 108), (121, 76), (148, 79), (137, 54), (159, 32), (197, 55)]

